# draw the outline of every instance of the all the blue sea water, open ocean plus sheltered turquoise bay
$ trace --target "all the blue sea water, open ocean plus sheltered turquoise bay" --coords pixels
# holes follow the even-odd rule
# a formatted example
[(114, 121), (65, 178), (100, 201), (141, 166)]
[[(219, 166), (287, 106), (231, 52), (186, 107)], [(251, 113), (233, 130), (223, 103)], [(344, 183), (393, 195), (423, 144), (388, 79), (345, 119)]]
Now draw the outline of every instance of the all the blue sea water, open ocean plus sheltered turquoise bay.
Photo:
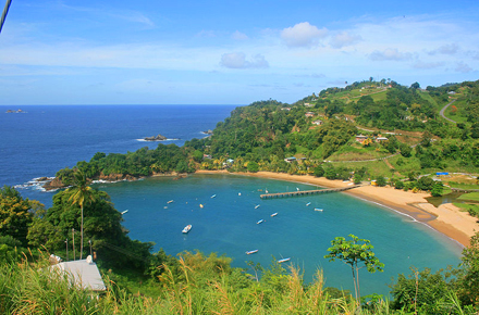
[[(89, 161), (96, 152), (126, 153), (157, 142), (144, 137), (161, 134), (162, 143), (183, 146), (202, 138), (230, 115), (234, 105), (29, 105), (0, 106), (0, 185), (15, 186), (22, 196), (51, 206), (54, 192), (33, 185), (63, 167)], [(192, 175), (180, 180), (153, 177), (134, 182), (97, 184), (116, 210), (127, 212), (123, 225), (130, 237), (153, 241), (155, 251), (176, 255), (199, 250), (269, 266), (291, 257), (306, 281), (317, 268), (328, 287), (353, 291), (351, 268), (323, 259), (334, 237), (353, 234), (369, 239), (385, 264), (383, 273), (360, 272), (361, 294), (388, 294), (388, 285), (410, 267), (432, 270), (456, 266), (462, 247), (428, 226), (390, 209), (345, 193), (260, 200), (269, 192), (316, 189), (304, 184), (236, 175)], [(171, 201), (172, 202), (169, 202)], [(310, 203), (308, 205), (308, 203)], [(315, 209), (322, 209), (315, 211)], [(275, 216), (271, 214), (278, 213)], [(263, 219), (261, 224), (258, 220)], [(181, 231), (192, 224), (187, 235)], [(258, 250), (246, 255), (246, 251)]]

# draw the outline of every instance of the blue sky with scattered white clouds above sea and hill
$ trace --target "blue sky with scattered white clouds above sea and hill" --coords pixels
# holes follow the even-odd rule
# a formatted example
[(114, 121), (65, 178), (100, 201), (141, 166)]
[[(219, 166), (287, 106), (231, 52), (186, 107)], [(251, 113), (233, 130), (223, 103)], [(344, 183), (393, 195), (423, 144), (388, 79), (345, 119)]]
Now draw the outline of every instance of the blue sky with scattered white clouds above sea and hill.
[(0, 105), (293, 103), (370, 77), (479, 79), (479, 1), (13, 0), (0, 34)]

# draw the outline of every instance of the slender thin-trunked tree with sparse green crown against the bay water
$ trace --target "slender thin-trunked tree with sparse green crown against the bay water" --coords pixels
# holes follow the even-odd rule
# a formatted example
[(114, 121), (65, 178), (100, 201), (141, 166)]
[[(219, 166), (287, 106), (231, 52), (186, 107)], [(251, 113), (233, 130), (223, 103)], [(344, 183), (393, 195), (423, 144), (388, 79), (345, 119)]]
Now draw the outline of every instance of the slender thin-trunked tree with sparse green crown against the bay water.
[(324, 259), (329, 259), (330, 262), (337, 259), (351, 266), (356, 303), (359, 304), (359, 269), (366, 267), (369, 273), (383, 272), (384, 264), (372, 252), (371, 241), (360, 239), (354, 235), (349, 235), (349, 237), (351, 240), (347, 241), (343, 237), (334, 238), (331, 241), (332, 247), (328, 249), (330, 253), (324, 255)]

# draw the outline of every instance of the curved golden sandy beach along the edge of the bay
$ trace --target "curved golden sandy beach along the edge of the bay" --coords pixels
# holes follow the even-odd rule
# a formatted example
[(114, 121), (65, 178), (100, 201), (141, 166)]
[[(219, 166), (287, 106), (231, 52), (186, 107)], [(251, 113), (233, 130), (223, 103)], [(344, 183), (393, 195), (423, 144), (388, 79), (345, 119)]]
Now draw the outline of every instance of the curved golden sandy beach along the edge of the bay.
[[(198, 171), (198, 174), (229, 174), (226, 171)], [(310, 175), (288, 175), (272, 172), (258, 173), (233, 173), (234, 175), (262, 177), (269, 179), (279, 179), (296, 182), (306, 182), (326, 188), (341, 188), (351, 186), (351, 182), (342, 180), (329, 180), (324, 177), (314, 177)], [(404, 213), (422, 222), (435, 230), (456, 240), (460, 244), (467, 247), (471, 236), (479, 231), (477, 218), (470, 216), (466, 212), (452, 203), (441, 204), (439, 207), (428, 203), (426, 200), (430, 194), (427, 192), (410, 192), (394, 189), (391, 187), (363, 186), (348, 190), (351, 196), (367, 200), (369, 202), (379, 203), (397, 212)]]

